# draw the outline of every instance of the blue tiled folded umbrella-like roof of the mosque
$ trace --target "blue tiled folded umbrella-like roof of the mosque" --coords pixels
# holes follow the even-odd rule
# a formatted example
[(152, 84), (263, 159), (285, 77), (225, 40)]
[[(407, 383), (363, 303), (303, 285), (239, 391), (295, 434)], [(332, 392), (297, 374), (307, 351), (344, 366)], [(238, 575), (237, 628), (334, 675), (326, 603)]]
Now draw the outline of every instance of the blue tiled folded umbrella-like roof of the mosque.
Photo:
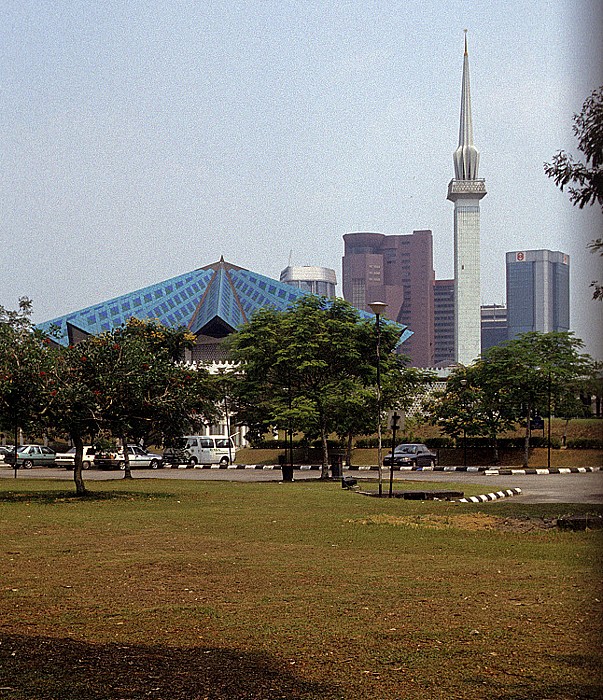
[[(125, 323), (131, 316), (156, 319), (174, 328), (186, 326), (196, 334), (202, 334), (216, 320), (234, 330), (258, 309), (272, 306), (285, 310), (305, 294), (301, 289), (221, 259), (165, 282), (45, 321), (38, 328), (49, 331), (57, 326), (57, 342), (61, 345), (68, 345), (77, 331), (97, 335)], [(372, 318), (366, 312), (361, 314)], [(409, 335), (406, 330), (402, 340)]]

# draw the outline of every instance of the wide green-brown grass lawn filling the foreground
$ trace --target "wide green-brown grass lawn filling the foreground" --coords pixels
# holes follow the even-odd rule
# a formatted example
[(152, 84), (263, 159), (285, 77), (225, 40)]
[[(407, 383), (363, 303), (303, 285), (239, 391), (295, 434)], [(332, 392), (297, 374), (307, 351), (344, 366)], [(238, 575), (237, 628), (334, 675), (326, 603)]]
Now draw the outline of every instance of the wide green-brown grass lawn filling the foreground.
[(0, 482), (1, 700), (603, 695), (601, 508), (88, 486)]

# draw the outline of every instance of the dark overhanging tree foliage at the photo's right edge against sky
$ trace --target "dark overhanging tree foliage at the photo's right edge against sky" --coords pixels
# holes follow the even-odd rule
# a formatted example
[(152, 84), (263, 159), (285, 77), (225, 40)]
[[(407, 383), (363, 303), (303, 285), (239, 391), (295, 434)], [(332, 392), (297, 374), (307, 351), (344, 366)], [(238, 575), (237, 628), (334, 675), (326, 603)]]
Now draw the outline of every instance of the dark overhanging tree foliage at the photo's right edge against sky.
[[(580, 209), (598, 202), (603, 210), (603, 86), (591, 93), (573, 121), (585, 162), (559, 151), (552, 163), (544, 164), (544, 172), (562, 191), (569, 185), (570, 201)], [(603, 239), (597, 238), (589, 248), (603, 255)], [(594, 287), (593, 298), (603, 299), (603, 287), (598, 282), (592, 282), (591, 287)]]

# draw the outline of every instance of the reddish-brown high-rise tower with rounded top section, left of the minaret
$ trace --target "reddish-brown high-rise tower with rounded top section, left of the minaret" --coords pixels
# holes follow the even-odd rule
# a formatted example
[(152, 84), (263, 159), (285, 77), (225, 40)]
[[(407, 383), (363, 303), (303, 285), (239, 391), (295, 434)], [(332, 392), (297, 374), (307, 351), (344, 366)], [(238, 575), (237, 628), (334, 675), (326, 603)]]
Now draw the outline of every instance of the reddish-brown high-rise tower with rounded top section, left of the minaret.
[(387, 318), (408, 326), (413, 335), (404, 352), (414, 367), (433, 367), (433, 247), (431, 231), (411, 235), (346, 233), (343, 297), (352, 306), (384, 301)]

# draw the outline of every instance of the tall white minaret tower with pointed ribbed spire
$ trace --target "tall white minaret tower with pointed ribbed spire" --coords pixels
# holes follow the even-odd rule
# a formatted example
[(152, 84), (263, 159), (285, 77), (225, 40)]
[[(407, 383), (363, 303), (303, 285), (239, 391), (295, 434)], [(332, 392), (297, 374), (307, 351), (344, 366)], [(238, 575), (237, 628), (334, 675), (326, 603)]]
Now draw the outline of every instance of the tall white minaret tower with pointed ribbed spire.
[(456, 362), (469, 365), (481, 352), (479, 200), (486, 196), (486, 182), (477, 177), (466, 29), (459, 146), (453, 158), (448, 199), (454, 202), (454, 348)]

